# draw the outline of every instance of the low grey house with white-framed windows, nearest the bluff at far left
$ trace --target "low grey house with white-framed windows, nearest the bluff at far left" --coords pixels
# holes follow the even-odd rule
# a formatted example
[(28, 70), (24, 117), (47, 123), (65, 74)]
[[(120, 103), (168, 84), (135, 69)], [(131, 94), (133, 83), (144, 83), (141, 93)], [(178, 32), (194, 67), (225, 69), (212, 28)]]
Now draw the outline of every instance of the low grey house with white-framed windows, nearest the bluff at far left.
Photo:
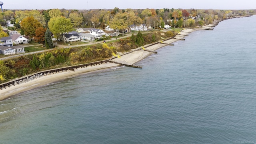
[(24, 53), (24, 52), (25, 52), (25, 48), (22, 45), (0, 46), (0, 54), (9, 55), (9, 54)]

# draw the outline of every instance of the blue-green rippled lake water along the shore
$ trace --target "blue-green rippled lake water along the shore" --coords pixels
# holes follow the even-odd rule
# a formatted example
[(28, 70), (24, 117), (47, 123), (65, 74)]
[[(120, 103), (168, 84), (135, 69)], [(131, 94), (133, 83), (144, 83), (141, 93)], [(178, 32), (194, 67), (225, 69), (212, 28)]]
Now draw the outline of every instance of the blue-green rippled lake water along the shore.
[(256, 143), (256, 16), (0, 101), (0, 144)]

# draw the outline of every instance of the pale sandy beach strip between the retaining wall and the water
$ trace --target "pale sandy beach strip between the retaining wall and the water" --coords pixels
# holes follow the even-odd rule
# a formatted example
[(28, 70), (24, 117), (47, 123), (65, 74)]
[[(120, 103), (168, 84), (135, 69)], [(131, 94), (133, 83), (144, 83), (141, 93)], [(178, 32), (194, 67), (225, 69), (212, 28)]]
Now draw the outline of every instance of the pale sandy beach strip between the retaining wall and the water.
[[(194, 32), (195, 30), (192, 29), (184, 29), (179, 34), (176, 35), (174, 39), (166, 40), (164, 43), (171, 44), (172, 42), (178, 41), (178, 39), (183, 39), (186, 37), (185, 35)], [(154, 44), (152, 46), (148, 46), (145, 49), (149, 51), (154, 51), (159, 48), (162, 48), (164, 46), (167, 46), (166, 44)], [(152, 52), (144, 51), (144, 50), (137, 50), (134, 52), (131, 52), (129, 54), (125, 54), (120, 56), (120, 58), (114, 58), (111, 61), (118, 62), (122, 64), (129, 64), (132, 65), (140, 60), (143, 60), (147, 56), (153, 54)], [(39, 86), (44, 86), (46, 84), (51, 84), (53, 82), (61, 81), (66, 78), (69, 78), (71, 76), (78, 76), (79, 74), (83, 74), (86, 72), (91, 72), (95, 70), (101, 70), (111, 67), (116, 67), (119, 64), (107, 62), (104, 64), (96, 65), (96, 66), (88, 66), (86, 68), (78, 68), (75, 71), (68, 70), (66, 72), (60, 72), (60, 73), (54, 73), (46, 76), (42, 76), (40, 78), (36, 78), (34, 80), (30, 80), (28, 82), (24, 82), (22, 84), (16, 84), (15, 86), (12, 85), (10, 87), (3, 88), (0, 90), (0, 100), (4, 100), (6, 98), (9, 98), (10, 96), (15, 96), (16, 94), (19, 94), (20, 92), (26, 92), (28, 90), (32, 90), (34, 88), (38, 88)]]

